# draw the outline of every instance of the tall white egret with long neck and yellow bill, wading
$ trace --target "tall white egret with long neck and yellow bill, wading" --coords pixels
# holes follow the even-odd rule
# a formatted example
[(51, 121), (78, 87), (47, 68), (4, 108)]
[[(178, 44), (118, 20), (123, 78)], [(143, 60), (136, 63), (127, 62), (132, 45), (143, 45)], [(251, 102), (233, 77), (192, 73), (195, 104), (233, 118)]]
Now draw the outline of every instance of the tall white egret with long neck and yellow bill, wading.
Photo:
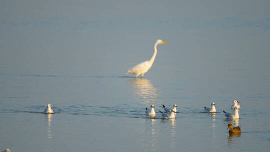
[(168, 43), (167, 41), (163, 41), (161, 39), (157, 39), (156, 42), (154, 43), (154, 52), (153, 52), (153, 55), (152, 57), (150, 58), (150, 60), (146, 60), (144, 62), (141, 62), (137, 65), (135, 65), (134, 67), (130, 68), (127, 72), (125, 72), (125, 74), (136, 74), (135, 77), (139, 76), (141, 74), (141, 77), (143, 77), (144, 73), (146, 73), (152, 66), (153, 62), (154, 62), (154, 59), (155, 59), (155, 56), (156, 56), (156, 53), (157, 53), (157, 49), (156, 49), (156, 46), (158, 44), (161, 44), (161, 43)]

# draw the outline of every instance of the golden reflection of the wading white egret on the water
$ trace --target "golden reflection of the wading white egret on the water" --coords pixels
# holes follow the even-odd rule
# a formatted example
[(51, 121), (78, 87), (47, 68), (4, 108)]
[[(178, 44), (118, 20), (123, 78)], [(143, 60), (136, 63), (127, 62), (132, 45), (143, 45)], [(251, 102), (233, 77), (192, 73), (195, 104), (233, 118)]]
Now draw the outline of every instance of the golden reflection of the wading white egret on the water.
[(139, 96), (138, 100), (143, 104), (156, 103), (157, 91), (150, 80), (145, 78), (128, 79), (128, 82), (136, 89), (135, 94)]

